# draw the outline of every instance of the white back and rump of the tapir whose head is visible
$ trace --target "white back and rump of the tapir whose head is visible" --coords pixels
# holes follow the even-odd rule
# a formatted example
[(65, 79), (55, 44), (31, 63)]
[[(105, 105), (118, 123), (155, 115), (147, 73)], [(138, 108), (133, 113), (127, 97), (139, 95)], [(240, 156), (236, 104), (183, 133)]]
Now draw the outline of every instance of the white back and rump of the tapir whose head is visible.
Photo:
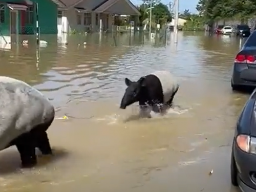
[(176, 78), (168, 71), (156, 71), (152, 75), (157, 76), (160, 80), (164, 96), (163, 100), (167, 102), (179, 86)]

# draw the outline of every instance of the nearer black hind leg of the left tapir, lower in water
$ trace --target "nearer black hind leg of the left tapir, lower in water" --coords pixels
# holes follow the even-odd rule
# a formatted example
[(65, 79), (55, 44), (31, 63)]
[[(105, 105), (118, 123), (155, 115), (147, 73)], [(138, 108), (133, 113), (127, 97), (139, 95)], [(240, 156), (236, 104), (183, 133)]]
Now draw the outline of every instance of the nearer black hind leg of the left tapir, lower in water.
[(13, 141), (20, 154), (23, 167), (31, 167), (37, 163), (35, 155), (35, 143), (30, 133), (25, 133)]

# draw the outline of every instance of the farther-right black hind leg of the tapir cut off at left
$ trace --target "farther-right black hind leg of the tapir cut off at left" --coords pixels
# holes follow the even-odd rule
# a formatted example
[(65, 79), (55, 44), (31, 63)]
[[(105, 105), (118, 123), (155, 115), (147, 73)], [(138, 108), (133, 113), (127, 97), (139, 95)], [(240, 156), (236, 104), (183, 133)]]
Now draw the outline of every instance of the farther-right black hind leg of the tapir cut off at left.
[(37, 125), (34, 129), (31, 130), (31, 135), (35, 141), (35, 146), (39, 148), (43, 155), (52, 154), (52, 148), (46, 131), (52, 124), (53, 119), (47, 123)]

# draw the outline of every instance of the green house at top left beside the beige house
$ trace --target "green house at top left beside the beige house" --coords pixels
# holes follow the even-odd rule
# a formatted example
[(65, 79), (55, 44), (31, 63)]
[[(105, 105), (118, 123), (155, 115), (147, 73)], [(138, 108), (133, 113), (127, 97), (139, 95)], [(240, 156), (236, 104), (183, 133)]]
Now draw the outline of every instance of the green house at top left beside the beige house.
[(57, 33), (55, 0), (0, 0), (0, 30), (3, 35), (34, 34), (36, 29), (35, 3), (42, 34)]

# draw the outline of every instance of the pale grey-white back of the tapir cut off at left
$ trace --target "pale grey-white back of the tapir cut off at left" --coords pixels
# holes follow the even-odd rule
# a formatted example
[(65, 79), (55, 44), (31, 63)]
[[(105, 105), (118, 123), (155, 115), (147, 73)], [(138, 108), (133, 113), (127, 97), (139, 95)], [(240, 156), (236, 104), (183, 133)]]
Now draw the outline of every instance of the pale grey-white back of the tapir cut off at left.
[(0, 150), (54, 116), (44, 95), (23, 81), (4, 76), (0, 76), (0, 109)]

